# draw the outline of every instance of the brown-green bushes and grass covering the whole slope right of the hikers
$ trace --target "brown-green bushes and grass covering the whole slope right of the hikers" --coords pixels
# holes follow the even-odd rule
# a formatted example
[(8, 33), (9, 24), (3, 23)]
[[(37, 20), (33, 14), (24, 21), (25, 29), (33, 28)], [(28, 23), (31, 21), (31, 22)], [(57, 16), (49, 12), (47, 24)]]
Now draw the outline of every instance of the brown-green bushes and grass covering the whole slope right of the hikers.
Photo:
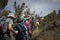
[(45, 25), (35, 30), (33, 40), (60, 40), (60, 14), (56, 14), (56, 11), (51, 12), (44, 17), (42, 24)]

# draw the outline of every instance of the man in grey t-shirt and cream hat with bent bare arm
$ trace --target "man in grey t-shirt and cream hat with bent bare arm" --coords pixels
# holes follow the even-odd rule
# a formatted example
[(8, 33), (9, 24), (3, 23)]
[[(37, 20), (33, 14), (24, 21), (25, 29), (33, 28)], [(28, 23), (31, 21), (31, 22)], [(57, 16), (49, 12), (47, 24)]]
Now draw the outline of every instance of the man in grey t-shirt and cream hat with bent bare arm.
[(6, 22), (8, 23), (8, 27), (7, 27), (7, 40), (11, 40), (11, 36), (10, 36), (10, 31), (12, 31), (15, 34), (18, 34), (17, 30), (14, 30), (12, 25), (13, 25), (13, 21), (15, 19), (15, 15), (14, 13), (9, 13), (8, 18), (6, 19)]

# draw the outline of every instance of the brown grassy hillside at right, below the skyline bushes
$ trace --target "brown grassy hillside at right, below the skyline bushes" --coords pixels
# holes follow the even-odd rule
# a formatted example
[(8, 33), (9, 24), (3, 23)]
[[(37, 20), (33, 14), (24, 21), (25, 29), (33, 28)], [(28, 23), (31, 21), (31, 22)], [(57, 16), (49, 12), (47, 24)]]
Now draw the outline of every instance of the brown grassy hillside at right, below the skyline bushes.
[(33, 40), (60, 40), (59, 15), (57, 15), (56, 18), (50, 21), (49, 24), (45, 24), (44, 26), (40, 26), (38, 30), (34, 30), (32, 39)]

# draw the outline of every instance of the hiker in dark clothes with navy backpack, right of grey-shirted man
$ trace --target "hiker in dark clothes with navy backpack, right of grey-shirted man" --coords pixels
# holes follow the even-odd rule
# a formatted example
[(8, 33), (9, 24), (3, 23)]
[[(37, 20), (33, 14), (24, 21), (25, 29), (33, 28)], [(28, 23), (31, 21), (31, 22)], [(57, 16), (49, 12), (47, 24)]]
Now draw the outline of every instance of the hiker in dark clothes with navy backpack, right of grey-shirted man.
[(23, 23), (24, 15), (21, 15), (17, 19), (17, 24), (14, 27), (15, 30), (18, 30), (18, 34), (15, 36), (16, 40), (27, 40), (27, 28)]

